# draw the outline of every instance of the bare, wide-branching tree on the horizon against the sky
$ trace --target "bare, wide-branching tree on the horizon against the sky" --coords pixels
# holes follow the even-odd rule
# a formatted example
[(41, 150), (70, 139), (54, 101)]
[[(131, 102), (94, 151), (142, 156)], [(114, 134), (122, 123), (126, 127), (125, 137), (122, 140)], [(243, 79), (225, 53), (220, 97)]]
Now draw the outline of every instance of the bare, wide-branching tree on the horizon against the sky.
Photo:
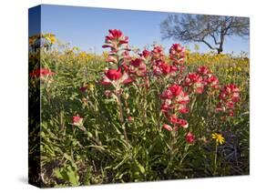
[(248, 17), (176, 14), (169, 15), (160, 28), (163, 39), (172, 37), (185, 43), (204, 43), (220, 54), (226, 36), (250, 35), (250, 20)]

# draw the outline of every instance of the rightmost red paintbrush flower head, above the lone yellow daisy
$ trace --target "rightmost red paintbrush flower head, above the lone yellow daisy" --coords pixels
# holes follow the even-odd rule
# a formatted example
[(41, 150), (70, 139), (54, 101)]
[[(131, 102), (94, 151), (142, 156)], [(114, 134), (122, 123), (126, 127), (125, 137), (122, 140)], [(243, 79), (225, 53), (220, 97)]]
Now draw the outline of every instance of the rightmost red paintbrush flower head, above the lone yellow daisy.
[(223, 86), (220, 90), (220, 102), (216, 107), (217, 112), (223, 112), (226, 115), (234, 116), (234, 107), (240, 100), (240, 89), (238, 86), (230, 84)]

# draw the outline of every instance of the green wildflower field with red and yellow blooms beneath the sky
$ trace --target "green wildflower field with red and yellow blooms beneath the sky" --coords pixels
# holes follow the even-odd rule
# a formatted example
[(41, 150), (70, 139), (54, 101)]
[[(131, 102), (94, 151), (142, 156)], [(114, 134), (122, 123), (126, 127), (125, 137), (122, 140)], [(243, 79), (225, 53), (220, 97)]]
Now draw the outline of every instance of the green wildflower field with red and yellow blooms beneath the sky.
[(52, 34), (29, 38), (31, 181), (64, 187), (249, 174), (246, 54), (191, 53), (179, 44), (169, 55), (159, 45), (131, 49), (116, 29), (103, 47), (98, 56)]

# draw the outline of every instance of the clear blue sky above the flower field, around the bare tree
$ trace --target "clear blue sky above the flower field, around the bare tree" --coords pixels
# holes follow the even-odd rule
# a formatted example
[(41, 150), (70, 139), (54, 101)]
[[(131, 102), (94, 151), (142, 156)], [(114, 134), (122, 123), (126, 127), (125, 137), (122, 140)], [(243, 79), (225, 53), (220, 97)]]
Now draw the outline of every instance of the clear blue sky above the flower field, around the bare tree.
[[(171, 13), (104, 9), (63, 5), (41, 6), (41, 31), (53, 33), (63, 42), (82, 50), (101, 53), (104, 49), (108, 29), (121, 29), (129, 37), (129, 45), (143, 48), (158, 42), (166, 47), (177, 43), (172, 39), (161, 40), (160, 23)], [(30, 16), (30, 24), (35, 24), (35, 14)], [(29, 28), (29, 35), (35, 29)], [(182, 44), (182, 43), (181, 43)], [(184, 44), (183, 44), (184, 45)], [(187, 44), (193, 50), (194, 44)], [(210, 49), (200, 44), (200, 52)], [(224, 53), (249, 52), (249, 39), (233, 36), (226, 39)]]

